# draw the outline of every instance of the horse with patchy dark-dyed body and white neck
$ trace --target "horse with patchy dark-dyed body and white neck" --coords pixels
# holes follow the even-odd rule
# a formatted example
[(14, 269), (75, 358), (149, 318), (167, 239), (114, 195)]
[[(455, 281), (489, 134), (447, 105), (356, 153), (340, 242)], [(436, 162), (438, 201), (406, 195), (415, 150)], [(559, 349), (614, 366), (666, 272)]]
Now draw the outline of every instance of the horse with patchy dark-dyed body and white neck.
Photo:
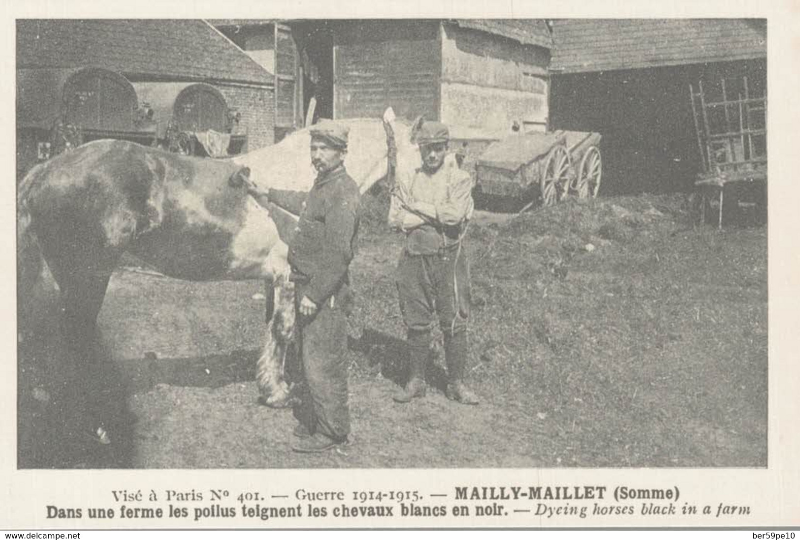
[[(421, 165), (413, 141), (421, 121), (398, 121), (391, 109), (382, 119), (342, 121), (350, 127), (345, 166), (362, 193), (387, 173)], [(35, 166), (18, 188), (19, 302), (30, 297), (46, 263), (67, 343), (88, 355), (125, 252), (181, 280), (262, 280), (267, 324), (256, 370), (259, 400), (288, 406), (283, 371), (295, 319), (286, 241), (298, 216), (259, 204), (245, 186), (307, 193), (315, 176), (309, 146), (309, 129), (224, 160), (100, 140)], [(24, 312), (18, 311), (20, 328)]]

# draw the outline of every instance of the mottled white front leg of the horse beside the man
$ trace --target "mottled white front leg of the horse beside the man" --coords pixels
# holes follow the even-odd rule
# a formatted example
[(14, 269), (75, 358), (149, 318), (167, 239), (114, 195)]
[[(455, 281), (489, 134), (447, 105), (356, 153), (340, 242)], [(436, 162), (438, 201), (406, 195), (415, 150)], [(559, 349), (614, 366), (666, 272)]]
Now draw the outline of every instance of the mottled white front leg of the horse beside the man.
[(286, 354), (294, 344), (294, 284), (289, 281), (285, 247), (284, 244), (270, 252), (265, 262), (266, 273), (273, 276), (266, 291), (267, 308), (270, 311), (271, 302), (272, 314), (266, 324), (262, 355), (256, 364), (259, 401), (276, 408), (290, 405), (284, 368)]

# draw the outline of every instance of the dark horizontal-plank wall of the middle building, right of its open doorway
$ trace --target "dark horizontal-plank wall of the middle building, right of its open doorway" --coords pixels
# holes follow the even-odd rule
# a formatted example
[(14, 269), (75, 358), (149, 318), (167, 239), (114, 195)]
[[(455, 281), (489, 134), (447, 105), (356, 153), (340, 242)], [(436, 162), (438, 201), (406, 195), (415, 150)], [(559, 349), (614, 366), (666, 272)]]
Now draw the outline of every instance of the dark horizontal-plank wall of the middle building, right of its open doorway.
[(334, 116), (438, 119), (438, 22), (342, 24), (334, 38)]

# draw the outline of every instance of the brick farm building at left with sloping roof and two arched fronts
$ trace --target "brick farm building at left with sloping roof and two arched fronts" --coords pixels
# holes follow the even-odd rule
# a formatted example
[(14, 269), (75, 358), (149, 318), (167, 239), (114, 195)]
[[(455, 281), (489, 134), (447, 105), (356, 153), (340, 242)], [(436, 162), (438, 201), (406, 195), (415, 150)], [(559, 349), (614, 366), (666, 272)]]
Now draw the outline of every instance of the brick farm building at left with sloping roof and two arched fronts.
[(270, 145), (273, 83), (200, 20), (19, 20), (18, 177), (55, 150), (54, 126), (82, 141), (194, 133), (217, 155)]

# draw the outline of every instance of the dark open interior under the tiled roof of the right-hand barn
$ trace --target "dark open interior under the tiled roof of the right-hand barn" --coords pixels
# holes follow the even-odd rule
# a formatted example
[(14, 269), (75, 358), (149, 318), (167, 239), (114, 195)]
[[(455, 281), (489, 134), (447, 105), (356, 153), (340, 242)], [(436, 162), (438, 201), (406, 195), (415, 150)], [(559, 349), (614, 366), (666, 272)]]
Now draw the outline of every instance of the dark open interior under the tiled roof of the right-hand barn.
[(603, 194), (690, 191), (702, 170), (689, 85), (746, 74), (762, 61), (555, 75), (550, 129), (602, 134)]

